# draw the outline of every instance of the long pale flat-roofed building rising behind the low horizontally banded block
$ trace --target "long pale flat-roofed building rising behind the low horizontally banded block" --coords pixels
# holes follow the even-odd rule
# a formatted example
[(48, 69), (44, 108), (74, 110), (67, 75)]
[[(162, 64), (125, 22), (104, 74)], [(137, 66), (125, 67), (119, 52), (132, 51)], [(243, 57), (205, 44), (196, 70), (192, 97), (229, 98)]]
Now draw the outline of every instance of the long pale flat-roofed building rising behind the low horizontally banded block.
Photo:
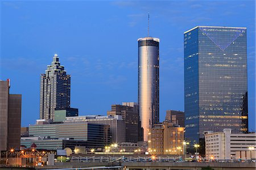
[(68, 122), (89, 122), (94, 124), (102, 124), (110, 126), (110, 134), (112, 135), (112, 143), (125, 142), (125, 120), (122, 115), (85, 115), (79, 117), (66, 117), (64, 123)]

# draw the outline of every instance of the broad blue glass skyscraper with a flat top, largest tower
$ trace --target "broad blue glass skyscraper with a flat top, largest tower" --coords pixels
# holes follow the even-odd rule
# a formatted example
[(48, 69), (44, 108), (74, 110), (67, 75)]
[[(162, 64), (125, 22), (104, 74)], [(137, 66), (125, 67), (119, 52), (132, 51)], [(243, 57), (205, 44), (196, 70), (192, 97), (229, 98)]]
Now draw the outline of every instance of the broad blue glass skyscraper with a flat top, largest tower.
[(185, 137), (231, 128), (247, 132), (246, 28), (197, 26), (184, 32)]

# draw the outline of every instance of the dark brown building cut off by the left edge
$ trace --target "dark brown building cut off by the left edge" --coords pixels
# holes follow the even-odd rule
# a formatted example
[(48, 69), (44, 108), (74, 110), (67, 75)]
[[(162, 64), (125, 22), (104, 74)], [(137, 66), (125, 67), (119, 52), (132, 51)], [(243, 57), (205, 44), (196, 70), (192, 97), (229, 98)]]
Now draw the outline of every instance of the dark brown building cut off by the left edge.
[(9, 94), (10, 80), (0, 80), (0, 151), (20, 147), (21, 94)]

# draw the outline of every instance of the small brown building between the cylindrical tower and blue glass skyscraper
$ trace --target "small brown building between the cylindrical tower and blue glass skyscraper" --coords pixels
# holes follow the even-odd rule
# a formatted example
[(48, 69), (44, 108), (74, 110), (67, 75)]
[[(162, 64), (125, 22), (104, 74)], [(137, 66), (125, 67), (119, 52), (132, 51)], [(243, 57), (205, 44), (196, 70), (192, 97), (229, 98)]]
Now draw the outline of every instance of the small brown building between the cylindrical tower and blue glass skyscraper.
[(184, 111), (166, 110), (166, 121), (185, 127)]

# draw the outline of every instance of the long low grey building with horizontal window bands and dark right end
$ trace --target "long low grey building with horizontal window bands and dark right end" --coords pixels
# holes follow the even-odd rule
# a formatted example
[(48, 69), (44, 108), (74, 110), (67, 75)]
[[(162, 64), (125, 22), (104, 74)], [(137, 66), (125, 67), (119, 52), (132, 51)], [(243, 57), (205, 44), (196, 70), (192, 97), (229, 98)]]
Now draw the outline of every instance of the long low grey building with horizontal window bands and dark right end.
[[(73, 147), (82, 144), (90, 147), (104, 147), (110, 144), (111, 141), (109, 127), (109, 125), (88, 122), (39, 123), (38, 125), (29, 126), (29, 134), (33, 137), (22, 138), (22, 144), (28, 146), (30, 143), (35, 143), (36, 146), (41, 146), (40, 148), (46, 148), (47, 145), (51, 146), (51, 144), (52, 146), (49, 148), (52, 148), (53, 144), (56, 147), (60, 143), (72, 143)], [(38, 139), (34, 137), (38, 137)], [(69, 141), (63, 142), (61, 140)]]

